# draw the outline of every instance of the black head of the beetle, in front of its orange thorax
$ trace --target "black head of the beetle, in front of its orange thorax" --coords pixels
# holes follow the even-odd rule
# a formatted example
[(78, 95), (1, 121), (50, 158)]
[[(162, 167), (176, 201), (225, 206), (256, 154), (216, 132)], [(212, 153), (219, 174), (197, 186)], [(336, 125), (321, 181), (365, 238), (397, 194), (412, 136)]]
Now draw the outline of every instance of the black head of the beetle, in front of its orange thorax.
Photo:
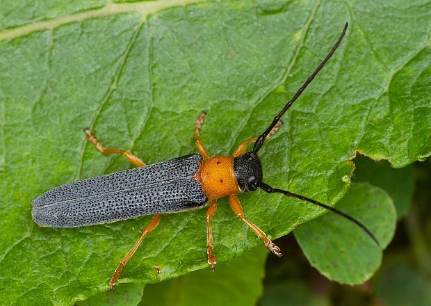
[(256, 153), (250, 151), (234, 158), (234, 173), (241, 191), (255, 191), (262, 182), (262, 165)]

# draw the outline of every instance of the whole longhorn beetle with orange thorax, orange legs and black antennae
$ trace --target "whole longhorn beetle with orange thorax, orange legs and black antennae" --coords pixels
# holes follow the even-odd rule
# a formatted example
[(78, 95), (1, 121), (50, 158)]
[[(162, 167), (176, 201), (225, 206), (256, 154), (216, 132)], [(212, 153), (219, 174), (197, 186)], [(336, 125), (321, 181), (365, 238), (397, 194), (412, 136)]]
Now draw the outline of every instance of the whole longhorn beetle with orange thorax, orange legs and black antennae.
[[(263, 240), (266, 247), (278, 257), (282, 256), (279, 247), (270, 241), (259, 227), (245, 218), (238, 200), (238, 193), (256, 191), (258, 188), (267, 193), (282, 193), (333, 211), (361, 227), (379, 245), (373, 233), (365, 225), (342, 211), (303, 195), (273, 188), (263, 183), (262, 166), (257, 156), (263, 142), (279, 129), (282, 115), (298, 99), (339, 47), (347, 27), (346, 23), (339, 39), (322, 63), (287, 102), (282, 111), (275, 116), (273, 122), (261, 136), (245, 140), (232, 155), (209, 157), (200, 140), (200, 129), (204, 123), (205, 112), (202, 112), (195, 122), (195, 145), (200, 154), (181, 156), (150, 166), (145, 166), (143, 161), (129, 152), (105, 148), (90, 129), (85, 129), (86, 138), (101, 153), (123, 154), (138, 168), (84, 179), (47, 191), (32, 203), (34, 222), (44, 227), (81, 227), (154, 215), (149, 225), (140, 234), (138, 241), (115, 269), (109, 283), (111, 290), (114, 289), (122, 268), (136, 252), (145, 236), (158, 225), (161, 214), (197, 209), (204, 207), (206, 203), (209, 203), (209, 209), (206, 211), (208, 264), (211, 266), (211, 270), (214, 270), (216, 261), (210, 223), (215, 214), (216, 200), (223, 197), (229, 197), (229, 204), (236, 216)], [(246, 152), (247, 145), (250, 143), (254, 143), (253, 150)]]

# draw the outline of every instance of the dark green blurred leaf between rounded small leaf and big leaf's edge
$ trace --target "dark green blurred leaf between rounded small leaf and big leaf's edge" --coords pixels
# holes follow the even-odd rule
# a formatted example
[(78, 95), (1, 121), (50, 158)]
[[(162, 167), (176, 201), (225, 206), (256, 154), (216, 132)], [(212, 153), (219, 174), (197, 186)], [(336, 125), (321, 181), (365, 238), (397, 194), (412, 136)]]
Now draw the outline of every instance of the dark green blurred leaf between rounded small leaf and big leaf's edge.
[(368, 182), (386, 191), (396, 207), (397, 218), (407, 214), (414, 191), (413, 166), (394, 169), (385, 161), (355, 158), (355, 182)]

